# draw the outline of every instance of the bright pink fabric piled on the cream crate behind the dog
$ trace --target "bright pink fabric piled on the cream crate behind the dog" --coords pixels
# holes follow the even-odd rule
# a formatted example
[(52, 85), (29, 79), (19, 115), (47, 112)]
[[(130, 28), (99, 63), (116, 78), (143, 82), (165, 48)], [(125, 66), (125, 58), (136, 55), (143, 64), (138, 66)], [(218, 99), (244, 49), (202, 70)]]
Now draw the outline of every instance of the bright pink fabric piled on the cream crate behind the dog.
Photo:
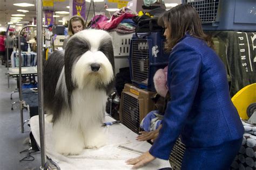
[(134, 15), (131, 13), (123, 13), (121, 16), (112, 16), (110, 20), (101, 22), (97, 25), (97, 29), (110, 30), (117, 27), (117, 25), (122, 22), (123, 19), (132, 18)]

